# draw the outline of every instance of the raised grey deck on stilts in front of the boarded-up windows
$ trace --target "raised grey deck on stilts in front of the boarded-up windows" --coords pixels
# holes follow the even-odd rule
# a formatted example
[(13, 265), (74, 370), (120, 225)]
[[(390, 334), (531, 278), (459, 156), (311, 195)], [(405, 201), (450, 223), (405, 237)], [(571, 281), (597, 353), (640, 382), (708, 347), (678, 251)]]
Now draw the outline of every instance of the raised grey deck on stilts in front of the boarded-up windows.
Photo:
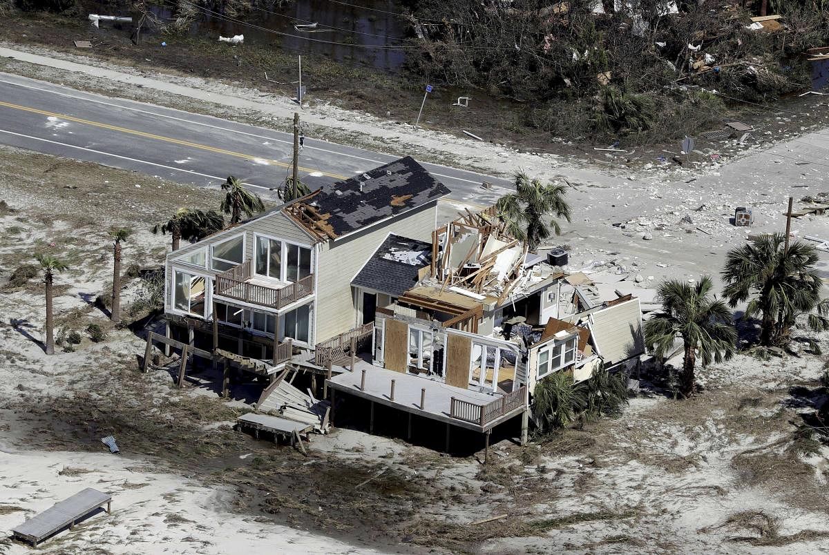
[(507, 395), (480, 393), (376, 366), (343, 372), (326, 383), (337, 392), (476, 432), (488, 432), (526, 408), (524, 388)]

